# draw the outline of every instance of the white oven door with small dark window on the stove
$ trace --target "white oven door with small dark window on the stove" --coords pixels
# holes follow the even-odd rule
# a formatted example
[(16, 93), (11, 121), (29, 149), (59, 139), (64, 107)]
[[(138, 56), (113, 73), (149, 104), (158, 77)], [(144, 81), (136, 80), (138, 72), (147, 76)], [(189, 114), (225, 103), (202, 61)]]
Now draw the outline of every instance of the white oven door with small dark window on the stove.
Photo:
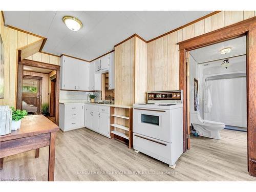
[(171, 142), (170, 110), (133, 109), (133, 132)]

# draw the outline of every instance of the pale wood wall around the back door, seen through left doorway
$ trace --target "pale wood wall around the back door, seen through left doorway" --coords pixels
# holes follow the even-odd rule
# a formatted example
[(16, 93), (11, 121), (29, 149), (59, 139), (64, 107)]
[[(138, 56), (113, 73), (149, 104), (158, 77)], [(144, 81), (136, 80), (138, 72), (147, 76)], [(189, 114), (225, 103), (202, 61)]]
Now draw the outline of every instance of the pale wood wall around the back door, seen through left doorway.
[(37, 76), (37, 77), (42, 77), (42, 93), (41, 93), (41, 100), (42, 104), (43, 103), (49, 103), (49, 75), (45, 73), (37, 73), (37, 72), (30, 72), (30, 71), (24, 71), (24, 75), (31, 75), (31, 76)]

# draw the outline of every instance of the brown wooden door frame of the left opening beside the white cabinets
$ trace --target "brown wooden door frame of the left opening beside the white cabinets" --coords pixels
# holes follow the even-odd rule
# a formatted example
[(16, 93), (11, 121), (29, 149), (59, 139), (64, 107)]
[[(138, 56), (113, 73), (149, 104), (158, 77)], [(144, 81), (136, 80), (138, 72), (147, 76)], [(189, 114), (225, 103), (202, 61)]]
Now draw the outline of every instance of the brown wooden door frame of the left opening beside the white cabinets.
[(29, 59), (20, 60), (21, 51), (18, 50), (18, 72), (17, 72), (17, 96), (16, 109), (22, 109), (22, 84), (23, 84), (23, 67), (31, 66), (42, 69), (51, 69), (56, 71), (56, 86), (55, 86), (55, 124), (59, 124), (59, 76), (60, 66), (52, 65), (45, 62), (33, 61)]

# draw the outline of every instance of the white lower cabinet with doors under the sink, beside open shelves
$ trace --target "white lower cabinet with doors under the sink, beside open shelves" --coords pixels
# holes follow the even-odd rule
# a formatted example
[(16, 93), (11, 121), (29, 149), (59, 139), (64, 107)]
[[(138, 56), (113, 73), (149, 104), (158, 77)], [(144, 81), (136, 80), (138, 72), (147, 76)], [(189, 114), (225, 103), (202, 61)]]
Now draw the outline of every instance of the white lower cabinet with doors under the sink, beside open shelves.
[(110, 107), (86, 104), (85, 126), (110, 138)]

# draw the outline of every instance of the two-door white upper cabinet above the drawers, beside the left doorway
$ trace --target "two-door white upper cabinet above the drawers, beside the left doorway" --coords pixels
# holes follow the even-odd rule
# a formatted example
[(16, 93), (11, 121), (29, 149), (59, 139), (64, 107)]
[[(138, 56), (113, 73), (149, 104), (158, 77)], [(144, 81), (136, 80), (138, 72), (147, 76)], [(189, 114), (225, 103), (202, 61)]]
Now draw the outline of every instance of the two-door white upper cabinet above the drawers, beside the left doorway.
[(89, 90), (89, 62), (62, 56), (60, 71), (60, 89)]

